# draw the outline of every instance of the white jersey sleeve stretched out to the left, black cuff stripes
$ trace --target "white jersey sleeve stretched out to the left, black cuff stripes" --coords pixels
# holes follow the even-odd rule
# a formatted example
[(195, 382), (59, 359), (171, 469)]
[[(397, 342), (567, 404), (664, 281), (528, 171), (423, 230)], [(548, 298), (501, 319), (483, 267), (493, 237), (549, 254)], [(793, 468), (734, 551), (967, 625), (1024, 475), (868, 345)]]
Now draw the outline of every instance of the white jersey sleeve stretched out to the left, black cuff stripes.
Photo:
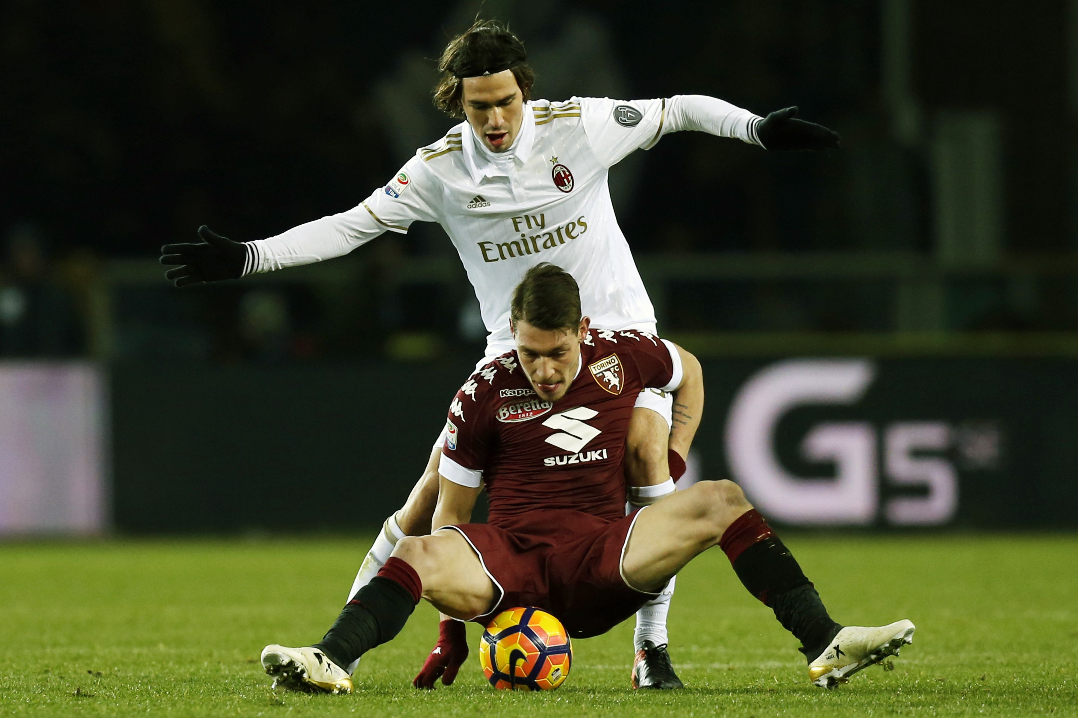
[(350, 210), (248, 242), (252, 248), (249, 271), (273, 271), (348, 254), (387, 229), (403, 234), (413, 222), (437, 222), (440, 203), (441, 183), (418, 156), (412, 157), (389, 184)]

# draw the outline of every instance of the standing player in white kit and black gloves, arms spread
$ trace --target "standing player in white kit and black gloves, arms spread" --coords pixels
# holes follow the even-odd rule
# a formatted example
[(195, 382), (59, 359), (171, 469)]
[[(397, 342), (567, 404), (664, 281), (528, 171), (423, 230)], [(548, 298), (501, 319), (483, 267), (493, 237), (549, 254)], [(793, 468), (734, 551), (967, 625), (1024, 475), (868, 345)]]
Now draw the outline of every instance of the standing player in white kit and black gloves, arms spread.
[[(387, 230), (406, 233), (413, 222), (437, 222), (460, 255), (489, 333), (478, 366), (513, 349), (509, 297), (540, 262), (554, 263), (577, 279), (583, 312), (594, 325), (613, 333), (657, 334), (654, 310), (613, 213), (609, 169), (635, 150), (654, 146), (664, 135), (687, 129), (771, 150), (825, 151), (839, 143), (826, 127), (794, 119), (796, 108), (761, 118), (699, 95), (531, 100), (534, 74), (524, 46), (496, 22), (478, 22), (454, 38), (439, 69), (436, 104), (466, 121), (419, 149), (385, 187), (346, 212), (268, 239), (233, 242), (202, 227), (204, 242), (162, 249), (163, 264), (179, 265), (166, 277), (184, 286), (321, 262)], [(668, 395), (639, 395), (625, 463), (635, 476), (650, 477), (640, 483), (652, 485), (630, 496), (631, 504), (647, 505), (674, 491), (687, 447), (678, 428)], [(431, 531), (441, 446), (439, 437), (407, 503), (386, 520), (349, 599), (377, 574), (397, 540)], [(673, 588), (672, 580), (664, 595), (637, 615), (634, 688), (681, 687), (666, 651)], [(439, 676), (452, 682), (467, 656), (462, 624), (443, 621), (440, 636), (416, 677), (417, 687), (433, 687)]]

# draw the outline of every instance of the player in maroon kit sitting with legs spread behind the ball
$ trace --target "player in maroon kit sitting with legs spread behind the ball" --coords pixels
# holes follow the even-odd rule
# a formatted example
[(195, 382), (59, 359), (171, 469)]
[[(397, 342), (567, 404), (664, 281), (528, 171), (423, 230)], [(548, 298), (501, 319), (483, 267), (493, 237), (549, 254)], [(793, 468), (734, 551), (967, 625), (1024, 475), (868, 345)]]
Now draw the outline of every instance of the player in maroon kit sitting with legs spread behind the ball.
[[(824, 687), (912, 642), (910, 621), (842, 627), (798, 562), (731, 481), (701, 481), (630, 516), (649, 487), (626, 487), (625, 434), (637, 394), (674, 392), (695, 433), (700, 363), (646, 332), (609, 332), (581, 316), (577, 283), (550, 264), (512, 297), (516, 350), (469, 380), (450, 407), (429, 536), (398, 541), (322, 640), (262, 652), (275, 686), (351, 690), (341, 667), (390, 640), (420, 599), (486, 623), (516, 606), (557, 617), (572, 637), (631, 617), (699, 553), (718, 545), (745, 587), (802, 643)], [(469, 523), (486, 488), (488, 523)]]

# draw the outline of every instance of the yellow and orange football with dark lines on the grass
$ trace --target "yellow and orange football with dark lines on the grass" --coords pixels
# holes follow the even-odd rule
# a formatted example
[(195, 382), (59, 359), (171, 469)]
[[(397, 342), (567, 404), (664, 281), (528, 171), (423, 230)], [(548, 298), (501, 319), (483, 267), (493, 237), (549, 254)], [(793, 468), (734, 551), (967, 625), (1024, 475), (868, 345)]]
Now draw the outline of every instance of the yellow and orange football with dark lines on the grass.
[(572, 642), (547, 611), (510, 608), (486, 627), (479, 660), (498, 690), (552, 691), (569, 676)]

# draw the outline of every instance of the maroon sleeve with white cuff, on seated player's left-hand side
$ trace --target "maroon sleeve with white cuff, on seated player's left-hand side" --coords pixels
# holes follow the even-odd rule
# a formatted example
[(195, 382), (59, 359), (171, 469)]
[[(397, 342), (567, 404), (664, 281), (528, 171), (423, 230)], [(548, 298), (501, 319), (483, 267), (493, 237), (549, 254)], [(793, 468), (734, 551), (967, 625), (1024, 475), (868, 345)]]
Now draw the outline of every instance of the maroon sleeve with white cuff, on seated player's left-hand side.
[(489, 382), (482, 372), (470, 377), (450, 404), (445, 420), (445, 442), (438, 471), (450, 481), (476, 488), (483, 482), (483, 469), (492, 444)]

